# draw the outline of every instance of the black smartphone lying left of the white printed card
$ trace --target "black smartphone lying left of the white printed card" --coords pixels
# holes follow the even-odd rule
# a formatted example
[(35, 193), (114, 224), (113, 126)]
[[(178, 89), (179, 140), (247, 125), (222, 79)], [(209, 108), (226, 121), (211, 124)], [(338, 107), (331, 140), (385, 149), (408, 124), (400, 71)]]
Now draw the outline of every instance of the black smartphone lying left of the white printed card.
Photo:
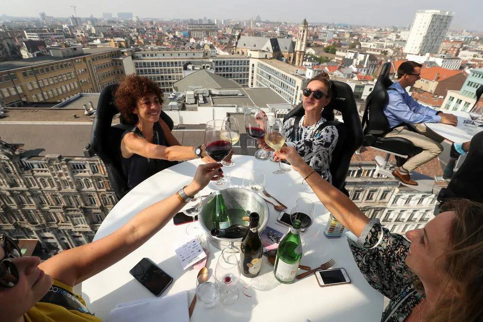
[(156, 296), (160, 296), (173, 282), (171, 276), (146, 257), (132, 267), (129, 272), (149, 292)]

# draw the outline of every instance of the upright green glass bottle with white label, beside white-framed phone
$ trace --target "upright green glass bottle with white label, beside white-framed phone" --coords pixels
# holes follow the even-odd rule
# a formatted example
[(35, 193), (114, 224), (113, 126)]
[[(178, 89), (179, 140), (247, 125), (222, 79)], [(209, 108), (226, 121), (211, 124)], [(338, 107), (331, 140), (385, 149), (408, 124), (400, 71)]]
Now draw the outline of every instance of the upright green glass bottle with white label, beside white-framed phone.
[(279, 244), (273, 271), (275, 278), (280, 283), (289, 284), (295, 280), (298, 265), (302, 259), (302, 242), (299, 235), (300, 225), (300, 220), (294, 220), (290, 231)]

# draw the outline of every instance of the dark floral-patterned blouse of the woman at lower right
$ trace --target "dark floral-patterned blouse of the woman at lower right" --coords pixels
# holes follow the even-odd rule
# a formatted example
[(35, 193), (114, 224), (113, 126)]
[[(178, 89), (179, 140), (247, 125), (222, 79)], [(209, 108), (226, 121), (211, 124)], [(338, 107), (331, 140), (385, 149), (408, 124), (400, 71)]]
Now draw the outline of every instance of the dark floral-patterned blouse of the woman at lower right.
[(348, 240), (361, 273), (373, 288), (390, 299), (381, 322), (403, 322), (425, 297), (414, 288), (414, 275), (405, 263), (409, 241), (391, 234), (378, 219), (367, 224), (357, 241)]

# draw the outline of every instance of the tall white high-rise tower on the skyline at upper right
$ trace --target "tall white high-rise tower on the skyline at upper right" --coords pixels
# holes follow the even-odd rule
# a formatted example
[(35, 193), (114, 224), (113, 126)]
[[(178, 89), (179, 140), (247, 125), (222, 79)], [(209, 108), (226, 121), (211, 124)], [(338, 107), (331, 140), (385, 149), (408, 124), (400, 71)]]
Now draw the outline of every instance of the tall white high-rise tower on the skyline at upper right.
[(452, 19), (453, 13), (450, 11), (416, 11), (404, 52), (417, 55), (436, 53)]

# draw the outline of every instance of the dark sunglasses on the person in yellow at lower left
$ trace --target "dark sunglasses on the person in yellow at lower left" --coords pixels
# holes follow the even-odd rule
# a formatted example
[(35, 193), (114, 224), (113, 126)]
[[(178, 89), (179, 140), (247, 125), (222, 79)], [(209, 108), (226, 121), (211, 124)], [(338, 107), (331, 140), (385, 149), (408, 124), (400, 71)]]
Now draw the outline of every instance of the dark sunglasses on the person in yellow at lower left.
[(5, 257), (0, 261), (0, 286), (14, 287), (19, 283), (19, 270), (11, 261), (22, 256), (17, 243), (5, 233), (0, 233), (0, 243)]

